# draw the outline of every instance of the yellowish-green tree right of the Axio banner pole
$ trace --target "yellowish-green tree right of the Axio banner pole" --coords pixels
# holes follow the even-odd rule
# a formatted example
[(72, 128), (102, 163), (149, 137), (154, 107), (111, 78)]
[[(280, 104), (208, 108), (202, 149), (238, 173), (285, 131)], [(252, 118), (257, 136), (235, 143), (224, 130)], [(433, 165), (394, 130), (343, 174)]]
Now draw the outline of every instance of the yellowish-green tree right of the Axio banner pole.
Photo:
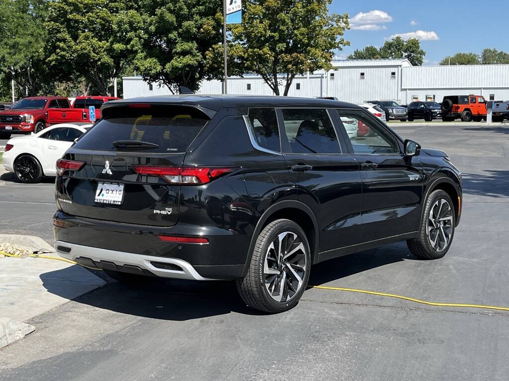
[[(245, 0), (242, 24), (231, 27), (244, 71), (257, 73), (279, 95), (287, 95), (297, 74), (331, 68), (334, 50), (350, 45), (343, 38), (348, 14), (329, 14), (332, 0)], [(278, 73), (286, 73), (281, 81)]]

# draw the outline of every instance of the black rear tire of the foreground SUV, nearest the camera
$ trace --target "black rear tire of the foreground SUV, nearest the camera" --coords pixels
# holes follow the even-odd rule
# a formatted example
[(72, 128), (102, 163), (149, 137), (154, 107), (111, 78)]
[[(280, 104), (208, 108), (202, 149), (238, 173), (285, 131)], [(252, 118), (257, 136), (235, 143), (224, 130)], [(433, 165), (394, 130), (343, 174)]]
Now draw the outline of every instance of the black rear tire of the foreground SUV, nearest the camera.
[[(295, 256), (289, 257), (290, 259), (286, 261), (282, 258), (281, 253), (279, 254), (279, 259), (277, 262), (269, 257), (270, 255), (275, 255), (277, 257), (277, 249), (275, 246), (273, 247), (273, 251), (271, 251), (271, 245), (274, 242), (278, 242), (278, 235), (289, 233), (287, 236), (284, 236), (282, 241), (282, 244), (286, 245), (286, 248), (290, 250), (290, 248), (293, 247), (293, 250), (295, 248), (300, 246), (300, 243), (303, 245), (303, 251), (298, 250), (295, 253)], [(290, 237), (288, 236), (296, 235), (298, 238)], [(297, 245), (297, 246), (295, 246)], [(282, 250), (281, 250), (282, 252)], [(285, 251), (286, 253), (286, 251)], [(269, 259), (267, 259), (269, 258)], [(267, 277), (265, 276), (265, 261), (271, 261), (271, 265), (269, 268), (269, 265), (267, 268), (270, 269), (270, 271), (273, 271), (270, 275)], [(299, 283), (298, 287), (295, 289), (295, 285), (293, 284), (296, 279), (296, 277), (292, 276), (292, 273), (290, 270), (286, 270), (286, 267), (289, 267), (288, 263), (291, 263), (291, 261), (298, 260), (298, 263), (293, 262), (294, 266), (298, 266), (297, 268), (302, 269), (302, 261), (304, 262), (304, 266), (302, 269), (302, 273), (299, 274), (301, 282)], [(287, 265), (285, 267), (285, 262)], [(280, 263), (280, 265), (279, 265)], [(258, 239), (256, 241), (256, 244), (254, 245), (254, 250), (252, 252), (251, 256), (251, 262), (249, 264), (249, 270), (247, 272), (247, 275), (237, 280), (237, 289), (239, 291), (240, 297), (242, 300), (251, 308), (258, 309), (260, 311), (264, 312), (283, 312), (287, 311), (299, 302), (300, 297), (304, 293), (304, 290), (306, 289), (307, 280), (309, 279), (309, 271), (311, 266), (311, 256), (310, 256), (310, 250), (309, 250), (309, 243), (307, 241), (307, 237), (302, 230), (302, 228), (294, 223), (294, 221), (291, 221), (289, 219), (277, 219), (273, 222), (271, 222), (269, 225), (267, 225), (260, 235), (258, 236)], [(295, 267), (293, 267), (295, 271)], [(280, 272), (279, 275), (277, 275), (277, 271)], [(301, 270), (298, 270), (301, 271)], [(283, 273), (288, 273), (289, 275), (284, 275)], [(271, 282), (269, 279), (272, 277), (273, 282)], [(293, 280), (292, 280), (293, 278)], [(279, 283), (277, 283), (279, 279)], [(271, 296), (267, 288), (270, 288), (270, 284), (274, 284), (272, 294), (274, 294), (275, 285), (281, 284), (281, 279), (284, 279), (285, 281), (282, 282), (282, 284), (291, 284), (292, 290), (283, 290), (278, 295), (284, 296), (285, 291), (287, 295), (286, 301), (276, 301), (275, 296)], [(269, 284), (266, 287), (266, 281)], [(278, 286), (279, 288), (279, 286)], [(275, 291), (278, 291), (277, 289)], [(292, 296), (290, 296), (290, 292), (293, 293)]]

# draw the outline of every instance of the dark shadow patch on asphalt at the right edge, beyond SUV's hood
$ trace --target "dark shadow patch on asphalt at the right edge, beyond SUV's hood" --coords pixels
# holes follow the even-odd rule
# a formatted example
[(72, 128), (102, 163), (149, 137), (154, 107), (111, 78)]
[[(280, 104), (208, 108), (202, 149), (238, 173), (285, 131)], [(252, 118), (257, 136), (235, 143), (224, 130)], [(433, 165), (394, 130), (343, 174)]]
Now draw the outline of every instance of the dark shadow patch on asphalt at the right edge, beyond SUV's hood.
[(486, 175), (463, 174), (463, 193), (475, 196), (509, 197), (509, 171), (486, 171)]

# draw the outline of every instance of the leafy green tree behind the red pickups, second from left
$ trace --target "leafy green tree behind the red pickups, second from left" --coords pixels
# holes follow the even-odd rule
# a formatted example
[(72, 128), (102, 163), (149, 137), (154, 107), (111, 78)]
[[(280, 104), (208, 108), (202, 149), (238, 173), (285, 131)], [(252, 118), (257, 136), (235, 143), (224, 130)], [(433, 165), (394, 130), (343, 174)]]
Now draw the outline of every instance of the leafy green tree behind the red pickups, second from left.
[(84, 78), (93, 92), (110, 96), (135, 51), (135, 6), (134, 0), (51, 0), (45, 27), (54, 79), (82, 87)]

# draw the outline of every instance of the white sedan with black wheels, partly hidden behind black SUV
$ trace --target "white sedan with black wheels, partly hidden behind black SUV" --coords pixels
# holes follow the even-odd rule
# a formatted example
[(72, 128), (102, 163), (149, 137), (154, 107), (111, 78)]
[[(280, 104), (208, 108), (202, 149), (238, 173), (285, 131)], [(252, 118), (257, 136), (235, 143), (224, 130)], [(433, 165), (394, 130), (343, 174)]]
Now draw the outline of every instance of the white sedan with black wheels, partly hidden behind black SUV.
[(37, 134), (10, 139), (2, 157), (6, 170), (21, 182), (39, 182), (43, 176), (56, 176), (56, 161), (92, 124), (55, 124)]

